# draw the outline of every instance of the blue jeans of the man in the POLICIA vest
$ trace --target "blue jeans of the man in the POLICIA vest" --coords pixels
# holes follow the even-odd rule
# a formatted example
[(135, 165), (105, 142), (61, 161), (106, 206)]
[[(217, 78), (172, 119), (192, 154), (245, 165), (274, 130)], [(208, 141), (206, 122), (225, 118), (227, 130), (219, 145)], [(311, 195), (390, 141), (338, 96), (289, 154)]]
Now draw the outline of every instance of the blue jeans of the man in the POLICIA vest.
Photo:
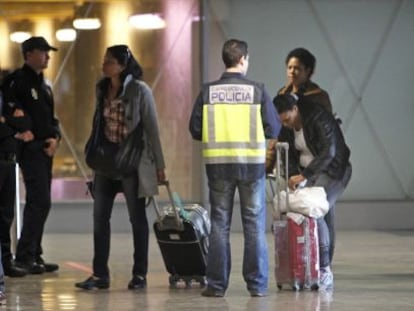
[(265, 233), (265, 177), (254, 181), (209, 180), (208, 184), (211, 205), (211, 233), (206, 272), (208, 287), (225, 292), (229, 284), (229, 236), (237, 188), (244, 233), (243, 277), (248, 291), (266, 293), (269, 267)]

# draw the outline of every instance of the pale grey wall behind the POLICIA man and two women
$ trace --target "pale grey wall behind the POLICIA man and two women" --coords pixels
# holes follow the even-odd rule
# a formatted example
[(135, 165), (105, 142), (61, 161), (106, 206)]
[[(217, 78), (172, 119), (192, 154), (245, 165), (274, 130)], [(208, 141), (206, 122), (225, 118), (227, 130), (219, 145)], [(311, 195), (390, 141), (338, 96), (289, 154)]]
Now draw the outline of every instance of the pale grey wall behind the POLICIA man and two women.
[(221, 46), (249, 44), (248, 77), (271, 96), (295, 47), (317, 58), (314, 81), (330, 94), (351, 148), (343, 200), (414, 197), (414, 1), (206, 0), (208, 79), (223, 69)]

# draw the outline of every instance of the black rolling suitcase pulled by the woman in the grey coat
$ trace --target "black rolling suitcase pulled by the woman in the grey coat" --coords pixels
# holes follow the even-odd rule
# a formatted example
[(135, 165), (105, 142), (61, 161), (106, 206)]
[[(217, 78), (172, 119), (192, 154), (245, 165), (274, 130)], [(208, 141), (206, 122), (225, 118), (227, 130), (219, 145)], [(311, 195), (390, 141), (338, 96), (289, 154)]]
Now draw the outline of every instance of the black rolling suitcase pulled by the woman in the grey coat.
[(190, 287), (193, 281), (206, 285), (206, 263), (210, 218), (206, 209), (198, 204), (183, 205), (174, 193), (169, 182), (164, 182), (170, 204), (159, 209), (154, 198), (152, 201), (157, 213), (154, 232), (164, 260), (170, 273), (169, 283), (176, 287), (180, 281)]

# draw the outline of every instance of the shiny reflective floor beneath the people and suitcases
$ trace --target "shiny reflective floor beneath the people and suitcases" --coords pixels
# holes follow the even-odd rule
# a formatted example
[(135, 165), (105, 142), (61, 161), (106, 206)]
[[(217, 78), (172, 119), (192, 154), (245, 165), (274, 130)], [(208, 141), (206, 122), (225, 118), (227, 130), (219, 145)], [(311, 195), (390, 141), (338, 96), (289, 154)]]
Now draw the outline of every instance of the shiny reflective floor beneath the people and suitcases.
[[(268, 235), (269, 250), (273, 237)], [(224, 298), (205, 298), (201, 289), (170, 289), (168, 274), (151, 235), (148, 288), (127, 290), (131, 270), (129, 234), (113, 234), (111, 288), (82, 291), (73, 284), (90, 274), (90, 234), (46, 234), (45, 259), (60, 264), (59, 273), (7, 278), (7, 303), (0, 310), (414, 310), (414, 231), (338, 233), (334, 264), (335, 290), (278, 291), (273, 270), (270, 295), (251, 298), (241, 277), (243, 238), (232, 233), (233, 267)], [(273, 267), (273, 253), (270, 252)]]

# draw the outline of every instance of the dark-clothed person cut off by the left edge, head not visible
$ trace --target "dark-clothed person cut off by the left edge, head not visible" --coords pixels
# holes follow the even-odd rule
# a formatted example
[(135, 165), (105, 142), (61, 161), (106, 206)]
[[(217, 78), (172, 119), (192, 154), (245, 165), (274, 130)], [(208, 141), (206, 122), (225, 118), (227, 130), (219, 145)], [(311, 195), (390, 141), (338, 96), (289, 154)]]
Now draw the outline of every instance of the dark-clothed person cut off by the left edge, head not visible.
[[(13, 105), (13, 104), (11, 104)], [(11, 110), (5, 118), (2, 110)], [(9, 277), (22, 277), (26, 270), (17, 267), (11, 253), (10, 228), (14, 218), (16, 194), (16, 153), (18, 141), (31, 139), (28, 128), (30, 119), (21, 109), (4, 106), (0, 92), (0, 243), (4, 274)], [(1, 286), (1, 285), (0, 285)]]

